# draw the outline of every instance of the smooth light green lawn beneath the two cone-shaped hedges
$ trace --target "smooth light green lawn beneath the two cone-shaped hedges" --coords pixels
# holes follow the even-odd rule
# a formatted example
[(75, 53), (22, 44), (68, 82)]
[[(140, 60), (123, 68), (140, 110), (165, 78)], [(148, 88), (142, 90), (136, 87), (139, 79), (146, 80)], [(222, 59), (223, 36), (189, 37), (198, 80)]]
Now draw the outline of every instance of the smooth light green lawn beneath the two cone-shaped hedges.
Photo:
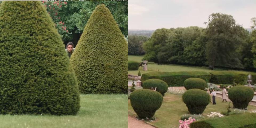
[(1, 128), (128, 127), (127, 95), (80, 95), (77, 115), (0, 115)]

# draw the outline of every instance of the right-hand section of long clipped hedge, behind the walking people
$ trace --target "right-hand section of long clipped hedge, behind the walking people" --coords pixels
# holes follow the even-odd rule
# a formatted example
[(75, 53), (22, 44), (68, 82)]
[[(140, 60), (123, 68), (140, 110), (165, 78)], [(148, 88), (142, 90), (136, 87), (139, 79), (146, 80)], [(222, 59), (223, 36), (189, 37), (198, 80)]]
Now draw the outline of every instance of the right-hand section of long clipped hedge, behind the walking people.
[(232, 84), (233, 82), (242, 84), (249, 74), (252, 75), (253, 81), (256, 80), (255, 73), (238, 71), (212, 71), (209, 73), (212, 74), (210, 82), (215, 84)]

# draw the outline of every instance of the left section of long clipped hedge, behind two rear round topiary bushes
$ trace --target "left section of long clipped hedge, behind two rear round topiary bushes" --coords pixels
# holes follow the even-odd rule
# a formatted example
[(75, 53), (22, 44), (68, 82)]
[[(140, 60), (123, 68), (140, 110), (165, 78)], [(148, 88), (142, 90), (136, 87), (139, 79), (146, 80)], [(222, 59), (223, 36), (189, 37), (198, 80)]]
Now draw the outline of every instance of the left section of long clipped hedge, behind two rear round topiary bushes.
[(211, 78), (211, 74), (203, 71), (152, 72), (142, 74), (141, 81), (144, 82), (147, 79), (161, 79), (170, 87), (183, 86), (184, 81), (188, 78), (201, 78), (203, 80), (209, 80)]

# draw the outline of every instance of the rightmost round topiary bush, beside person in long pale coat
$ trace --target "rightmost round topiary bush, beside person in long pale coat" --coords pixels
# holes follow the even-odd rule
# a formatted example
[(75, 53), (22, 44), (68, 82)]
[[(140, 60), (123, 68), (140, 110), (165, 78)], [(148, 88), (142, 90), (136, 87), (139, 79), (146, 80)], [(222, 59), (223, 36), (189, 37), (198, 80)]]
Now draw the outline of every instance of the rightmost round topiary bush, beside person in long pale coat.
[(246, 109), (249, 102), (253, 99), (254, 91), (250, 87), (235, 86), (229, 89), (228, 94), (234, 108)]

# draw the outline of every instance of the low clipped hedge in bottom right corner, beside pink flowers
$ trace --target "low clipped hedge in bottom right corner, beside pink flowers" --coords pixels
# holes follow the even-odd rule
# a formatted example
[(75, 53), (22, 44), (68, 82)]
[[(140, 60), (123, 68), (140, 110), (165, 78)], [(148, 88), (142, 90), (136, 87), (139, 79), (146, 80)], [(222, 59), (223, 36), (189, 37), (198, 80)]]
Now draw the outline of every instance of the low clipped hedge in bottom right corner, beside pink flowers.
[(230, 115), (213, 119), (203, 119), (190, 124), (190, 128), (255, 128), (255, 126), (255, 113)]

